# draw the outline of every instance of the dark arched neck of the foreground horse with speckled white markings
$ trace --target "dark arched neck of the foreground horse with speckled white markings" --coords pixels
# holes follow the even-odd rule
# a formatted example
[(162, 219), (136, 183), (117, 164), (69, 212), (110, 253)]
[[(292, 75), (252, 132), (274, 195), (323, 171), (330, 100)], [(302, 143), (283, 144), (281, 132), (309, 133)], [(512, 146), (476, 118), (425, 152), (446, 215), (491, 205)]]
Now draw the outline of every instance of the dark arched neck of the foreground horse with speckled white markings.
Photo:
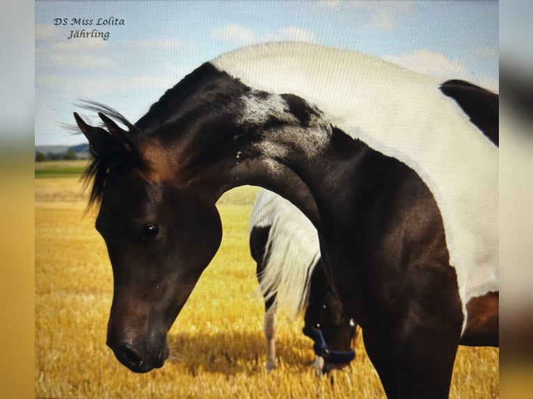
[[(324, 211), (319, 207), (331, 209), (328, 202), (346, 191), (361, 143), (332, 127), (300, 97), (253, 90), (210, 73), (207, 81), (214, 79), (218, 86), (197, 90), (204, 93), (201, 98), (188, 100), (196, 108), (182, 107), (195, 117), (183, 111), (167, 124), (182, 133), (152, 135), (155, 145), (147, 146), (153, 152), (148, 158), (154, 160), (156, 174), (213, 202), (237, 186), (268, 188), (293, 202), (316, 227), (321, 225)], [(206, 96), (216, 106), (205, 107)]]

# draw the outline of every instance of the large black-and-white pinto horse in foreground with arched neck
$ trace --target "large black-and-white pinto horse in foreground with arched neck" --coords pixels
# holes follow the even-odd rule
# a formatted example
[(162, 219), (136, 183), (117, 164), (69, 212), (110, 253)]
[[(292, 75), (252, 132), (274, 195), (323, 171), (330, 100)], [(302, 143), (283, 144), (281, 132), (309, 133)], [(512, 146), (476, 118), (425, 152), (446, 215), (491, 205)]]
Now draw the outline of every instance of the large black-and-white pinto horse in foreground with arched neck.
[(389, 398), (446, 398), (458, 345), (498, 345), (498, 95), (353, 51), (271, 43), (200, 65), (136, 123), (74, 114), (113, 268), (107, 344), (161, 367), (221, 242), (217, 199), (262, 186), (319, 232)]

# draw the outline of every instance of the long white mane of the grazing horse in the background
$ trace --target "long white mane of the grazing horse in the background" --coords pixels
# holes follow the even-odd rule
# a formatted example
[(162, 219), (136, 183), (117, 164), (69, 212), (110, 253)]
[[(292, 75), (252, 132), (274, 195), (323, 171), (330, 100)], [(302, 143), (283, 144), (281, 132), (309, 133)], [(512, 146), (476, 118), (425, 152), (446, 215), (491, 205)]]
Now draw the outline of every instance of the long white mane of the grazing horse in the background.
[(305, 307), (307, 283), (320, 258), (317, 230), (291, 202), (261, 188), (250, 216), (250, 231), (268, 226), (267, 245), (272, 250), (260, 278), (261, 290), (265, 299), (276, 294), (276, 306), (286, 307), (294, 318)]

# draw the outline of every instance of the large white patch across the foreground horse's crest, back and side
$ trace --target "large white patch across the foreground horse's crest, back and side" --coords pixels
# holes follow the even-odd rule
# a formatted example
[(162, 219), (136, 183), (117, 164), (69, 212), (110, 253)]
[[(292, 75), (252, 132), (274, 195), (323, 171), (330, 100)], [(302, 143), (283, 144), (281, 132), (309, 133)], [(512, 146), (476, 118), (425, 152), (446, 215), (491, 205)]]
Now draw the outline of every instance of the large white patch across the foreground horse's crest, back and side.
[(470, 298), (499, 291), (498, 148), (440, 92), (440, 80), (294, 42), (238, 49), (212, 64), (256, 90), (302, 97), (342, 131), (413, 168), (443, 215), (465, 315)]

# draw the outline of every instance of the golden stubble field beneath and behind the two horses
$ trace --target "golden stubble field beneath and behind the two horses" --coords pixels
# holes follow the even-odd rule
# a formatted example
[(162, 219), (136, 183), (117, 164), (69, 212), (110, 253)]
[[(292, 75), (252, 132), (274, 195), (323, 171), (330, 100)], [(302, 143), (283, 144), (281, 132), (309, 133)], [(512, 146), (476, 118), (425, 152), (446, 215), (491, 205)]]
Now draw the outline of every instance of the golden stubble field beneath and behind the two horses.
[[(35, 398), (383, 398), (361, 337), (351, 370), (318, 379), (302, 320), (278, 323), (280, 366), (267, 375), (263, 303), (248, 250), (256, 188), (218, 203), (221, 249), (186, 303), (170, 359), (138, 375), (106, 347), (111, 266), (77, 177), (35, 179)], [(459, 348), (450, 397), (498, 398), (494, 348)]]

